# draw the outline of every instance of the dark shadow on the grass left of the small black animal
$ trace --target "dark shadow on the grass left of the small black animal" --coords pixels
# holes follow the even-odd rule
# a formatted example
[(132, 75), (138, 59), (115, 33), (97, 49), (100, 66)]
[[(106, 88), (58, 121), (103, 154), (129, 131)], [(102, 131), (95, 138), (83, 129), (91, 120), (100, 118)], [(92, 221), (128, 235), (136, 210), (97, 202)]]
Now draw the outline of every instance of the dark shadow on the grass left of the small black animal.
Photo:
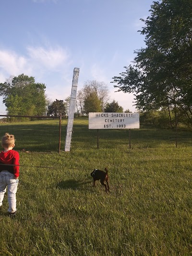
[(57, 183), (57, 189), (84, 189), (84, 185), (91, 183), (90, 181), (77, 181), (77, 180), (67, 180), (67, 181), (60, 181)]

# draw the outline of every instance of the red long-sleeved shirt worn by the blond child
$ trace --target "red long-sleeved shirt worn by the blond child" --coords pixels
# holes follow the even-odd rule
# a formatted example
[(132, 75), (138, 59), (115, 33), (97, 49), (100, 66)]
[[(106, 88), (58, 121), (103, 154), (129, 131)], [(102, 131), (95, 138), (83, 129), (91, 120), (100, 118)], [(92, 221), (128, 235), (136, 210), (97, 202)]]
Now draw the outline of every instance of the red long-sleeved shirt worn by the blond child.
[[(4, 164), (15, 164), (17, 166), (4, 166)], [(19, 153), (13, 149), (7, 152), (0, 152), (0, 171), (9, 171), (14, 174), (15, 178), (19, 177)]]

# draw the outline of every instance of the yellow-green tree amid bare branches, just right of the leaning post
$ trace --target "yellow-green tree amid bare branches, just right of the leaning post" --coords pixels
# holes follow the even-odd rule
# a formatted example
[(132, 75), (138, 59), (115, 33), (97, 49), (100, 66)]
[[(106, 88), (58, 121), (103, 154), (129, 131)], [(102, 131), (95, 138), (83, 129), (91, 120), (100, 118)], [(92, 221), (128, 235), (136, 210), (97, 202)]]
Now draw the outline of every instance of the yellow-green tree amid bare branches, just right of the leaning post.
[(84, 111), (86, 115), (89, 112), (101, 112), (101, 101), (96, 92), (91, 92), (89, 96), (84, 99)]

